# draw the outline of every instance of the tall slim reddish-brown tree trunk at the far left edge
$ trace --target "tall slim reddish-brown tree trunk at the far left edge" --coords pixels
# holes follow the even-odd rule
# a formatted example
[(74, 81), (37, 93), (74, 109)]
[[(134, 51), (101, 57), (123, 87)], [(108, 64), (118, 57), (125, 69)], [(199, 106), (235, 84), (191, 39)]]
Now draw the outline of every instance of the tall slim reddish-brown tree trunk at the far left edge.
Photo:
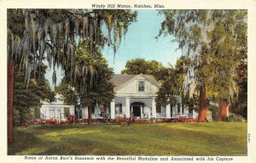
[(13, 61), (8, 63), (8, 143), (14, 143), (13, 120), (14, 120), (14, 82), (15, 64)]

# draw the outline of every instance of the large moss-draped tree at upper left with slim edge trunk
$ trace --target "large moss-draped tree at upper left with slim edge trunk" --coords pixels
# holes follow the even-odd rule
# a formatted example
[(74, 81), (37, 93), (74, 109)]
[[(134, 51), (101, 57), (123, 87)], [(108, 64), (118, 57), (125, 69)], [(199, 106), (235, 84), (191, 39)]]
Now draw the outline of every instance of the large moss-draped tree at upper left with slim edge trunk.
[[(90, 39), (93, 44), (119, 48), (122, 35), (135, 21), (136, 12), (120, 10), (88, 9), (8, 9), (8, 142), (13, 143), (13, 101), (15, 65), (26, 71), (28, 85), (32, 70), (37, 70), (44, 59), (49, 65), (61, 67), (72, 86), (76, 75), (73, 62), (78, 40)], [(102, 34), (102, 25), (108, 28), (108, 36)], [(71, 65), (71, 66), (67, 66)], [(85, 66), (90, 74), (90, 67)], [(55, 73), (54, 73), (55, 75)], [(56, 76), (53, 77), (54, 79)], [(84, 87), (87, 87), (84, 79)]]

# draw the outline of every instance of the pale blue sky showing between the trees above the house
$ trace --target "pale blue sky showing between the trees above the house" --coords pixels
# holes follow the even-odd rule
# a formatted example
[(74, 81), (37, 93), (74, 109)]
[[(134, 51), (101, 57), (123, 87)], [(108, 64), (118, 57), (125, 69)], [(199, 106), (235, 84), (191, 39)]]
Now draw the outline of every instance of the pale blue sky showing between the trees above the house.
[[(159, 34), (160, 23), (163, 20), (165, 20), (164, 15), (158, 14), (156, 10), (137, 10), (137, 21), (129, 25), (117, 53), (114, 55), (113, 48), (109, 48), (107, 45), (102, 48), (102, 54), (108, 60), (108, 65), (113, 68), (115, 74), (120, 74), (121, 70), (125, 69), (128, 60), (137, 58), (154, 59), (165, 66), (175, 65), (176, 60), (181, 56), (181, 50), (177, 50), (177, 42), (172, 42), (174, 37), (155, 38)], [(48, 69), (45, 75), (50, 84), (52, 84), (52, 71)], [(57, 70), (56, 73), (58, 85), (62, 78), (61, 70)]]

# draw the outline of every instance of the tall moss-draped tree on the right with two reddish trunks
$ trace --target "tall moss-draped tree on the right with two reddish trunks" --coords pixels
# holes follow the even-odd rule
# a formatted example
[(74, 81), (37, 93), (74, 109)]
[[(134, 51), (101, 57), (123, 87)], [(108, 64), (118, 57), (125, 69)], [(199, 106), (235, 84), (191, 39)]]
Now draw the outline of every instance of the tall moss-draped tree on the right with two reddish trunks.
[(224, 110), (237, 90), (236, 66), (247, 59), (247, 45), (241, 46), (247, 44), (247, 11), (163, 10), (160, 13), (166, 16), (160, 35), (176, 37), (183, 55), (191, 59), (183, 87), (190, 94), (200, 90), (198, 121), (205, 121), (208, 98), (218, 101), (218, 120), (226, 119)]

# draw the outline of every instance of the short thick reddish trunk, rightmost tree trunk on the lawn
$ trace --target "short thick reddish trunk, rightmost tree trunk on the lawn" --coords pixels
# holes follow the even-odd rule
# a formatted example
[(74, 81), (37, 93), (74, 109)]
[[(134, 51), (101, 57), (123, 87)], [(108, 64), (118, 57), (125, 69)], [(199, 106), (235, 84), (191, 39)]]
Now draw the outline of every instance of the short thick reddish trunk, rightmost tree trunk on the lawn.
[(222, 99), (218, 102), (218, 118), (217, 121), (227, 121), (228, 120), (228, 110), (229, 104), (226, 99)]

